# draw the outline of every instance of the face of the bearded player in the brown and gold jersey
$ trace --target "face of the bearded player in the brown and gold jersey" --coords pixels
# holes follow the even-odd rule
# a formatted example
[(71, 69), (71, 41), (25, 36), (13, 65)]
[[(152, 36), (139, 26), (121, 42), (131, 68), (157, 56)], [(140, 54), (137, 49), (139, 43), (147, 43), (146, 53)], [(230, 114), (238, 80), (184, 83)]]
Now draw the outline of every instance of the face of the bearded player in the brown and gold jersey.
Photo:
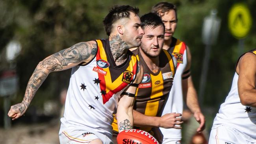
[(141, 51), (150, 58), (157, 57), (162, 48), (164, 42), (164, 30), (162, 26), (152, 28), (147, 26), (145, 29), (145, 35), (141, 39)]

